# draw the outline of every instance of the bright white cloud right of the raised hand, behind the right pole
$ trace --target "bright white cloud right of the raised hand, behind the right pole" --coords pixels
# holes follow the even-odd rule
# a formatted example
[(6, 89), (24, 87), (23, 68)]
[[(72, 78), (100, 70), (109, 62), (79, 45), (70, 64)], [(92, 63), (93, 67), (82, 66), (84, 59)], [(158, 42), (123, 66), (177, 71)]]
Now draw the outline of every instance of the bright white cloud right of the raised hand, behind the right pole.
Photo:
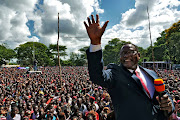
[[(180, 1), (178, 0), (136, 0), (135, 8), (123, 13), (120, 23), (107, 30), (104, 37), (117, 37), (120, 40), (131, 41), (138, 46), (147, 48), (150, 46), (147, 6), (154, 43), (162, 31), (178, 22), (180, 11), (177, 10), (177, 7), (179, 5)], [(107, 43), (105, 40), (104, 42)]]

